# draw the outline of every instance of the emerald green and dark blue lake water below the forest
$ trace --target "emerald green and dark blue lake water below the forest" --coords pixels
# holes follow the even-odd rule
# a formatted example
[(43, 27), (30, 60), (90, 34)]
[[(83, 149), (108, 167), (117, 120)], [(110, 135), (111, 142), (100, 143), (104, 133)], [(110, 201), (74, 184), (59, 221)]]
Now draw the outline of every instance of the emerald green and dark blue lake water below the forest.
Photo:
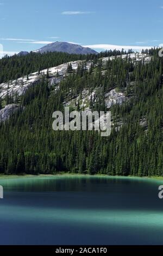
[(162, 245), (163, 180), (0, 178), (1, 245)]

